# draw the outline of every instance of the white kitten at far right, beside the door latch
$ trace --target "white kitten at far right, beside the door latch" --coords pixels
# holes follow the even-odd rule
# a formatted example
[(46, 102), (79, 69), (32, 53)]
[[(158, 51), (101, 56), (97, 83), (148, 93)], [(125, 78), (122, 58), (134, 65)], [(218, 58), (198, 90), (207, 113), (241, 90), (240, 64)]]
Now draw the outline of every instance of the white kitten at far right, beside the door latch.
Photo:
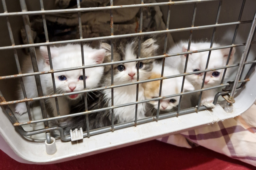
[[(210, 47), (210, 42), (191, 42), (190, 51), (208, 49)], [(220, 44), (213, 43), (212, 47), (220, 47)], [(181, 41), (174, 45), (169, 51), (168, 54), (186, 52), (188, 47), (188, 43)], [(208, 69), (214, 69), (221, 66), (225, 66), (227, 62), (227, 58), (229, 56), (230, 48), (220, 49), (220, 50), (212, 50), (211, 57), (208, 64)], [(235, 49), (233, 48), (229, 64), (233, 64)], [(192, 53), (189, 54), (188, 57), (188, 65), (187, 65), (187, 73), (193, 71), (204, 70), (207, 62), (209, 51), (200, 52), (200, 53)], [(170, 65), (173, 68), (177, 68), (180, 73), (184, 73), (186, 55), (181, 56), (173, 56), (166, 58), (166, 64)], [(206, 73), (204, 88), (213, 87), (220, 85), (224, 69), (213, 70)], [(229, 75), (229, 69), (227, 69), (225, 76)], [(203, 82), (204, 73), (192, 74), (186, 76), (186, 79), (193, 84), (195, 90), (201, 89)], [(212, 103), (216, 93), (218, 92), (218, 88), (211, 89), (207, 91), (203, 91), (201, 103)]]

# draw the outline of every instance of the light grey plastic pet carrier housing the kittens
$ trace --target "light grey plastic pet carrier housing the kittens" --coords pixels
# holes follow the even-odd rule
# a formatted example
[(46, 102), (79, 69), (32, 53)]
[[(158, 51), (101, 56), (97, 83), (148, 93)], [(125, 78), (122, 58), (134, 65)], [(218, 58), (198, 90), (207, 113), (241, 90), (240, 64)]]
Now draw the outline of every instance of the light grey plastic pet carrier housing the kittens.
[[(0, 149), (20, 162), (56, 163), (157, 139), (203, 125), (207, 126), (207, 124), (242, 114), (255, 102), (256, 97), (254, 90), (256, 83), (254, 70), (256, 63), (255, 9), (256, 2), (254, 0), (183, 0), (170, 2), (164, 0), (134, 0), (131, 2), (119, 0), (114, 3), (113, 0), (110, 2), (2, 0), (0, 3), (0, 22), (2, 23), (0, 26), (0, 101), (2, 108), (0, 110)], [(202, 91), (221, 88), (222, 90), (215, 95), (213, 104), (209, 104), (208, 107), (206, 107), (207, 105), (200, 105), (201, 97), (199, 97), (195, 106), (183, 109), (180, 104), (185, 102), (184, 99), (187, 98), (185, 96), (180, 98), (178, 109), (173, 112), (159, 114), (158, 109), (156, 116), (138, 120), (135, 117), (135, 121), (121, 124), (114, 124), (112, 121), (111, 126), (88, 132), (77, 127), (79, 130), (71, 131), (70, 135), (64, 135), (61, 127), (51, 127), (51, 122), (61, 118), (90, 114), (97, 112), (97, 110), (47, 117), (45, 100), (56, 98), (58, 101), (57, 98), (62, 95), (85, 94), (105, 88), (115, 89), (117, 86), (113, 84), (113, 86), (89, 90), (85, 88), (85, 90), (76, 93), (64, 94), (56, 93), (56, 87), (54, 87), (54, 94), (44, 96), (40, 75), (52, 74), (53, 76), (55, 72), (84, 70), (94, 65), (83, 65), (62, 70), (51, 68), (49, 71), (39, 72), (36, 64), (35, 47), (47, 46), (50, 52), (51, 45), (81, 43), (82, 46), (82, 43), (90, 42), (90, 45), (93, 46), (97, 40), (113, 40), (131, 36), (138, 36), (141, 40), (142, 36), (147, 35), (157, 37), (161, 55), (138, 58), (130, 62), (224, 48), (236, 49), (234, 64), (215, 68), (232, 69), (228, 81), (222, 80), (218, 86), (202, 87), (195, 91), (181, 91), (177, 94), (190, 96), (199, 93), (201, 96)], [(218, 42), (222, 46), (215, 48), (209, 46), (208, 49), (195, 51), (188, 49), (187, 52), (181, 54), (166, 53), (174, 42), (182, 39), (188, 40), (188, 44), (191, 41), (201, 40), (211, 42), (211, 45), (213, 42)], [(113, 45), (113, 41), (111, 42)], [(140, 50), (141, 45), (138, 48)], [(28, 54), (28, 52), (31, 56), (34, 73), (21, 71), (20, 63), (24, 60), (24, 53)], [(113, 54), (113, 50), (111, 53)], [(118, 62), (103, 63), (96, 66), (116, 63)], [(164, 67), (164, 59), (162, 64)], [(206, 69), (201, 70), (201, 72), (205, 73), (211, 70), (212, 68), (206, 66)], [(179, 76), (189, 74), (193, 74), (193, 72)], [(35, 77), (40, 97), (26, 98), (23, 87), (24, 99), (17, 99), (17, 84), (22, 84), (22, 78), (25, 76)], [(161, 77), (155, 80), (172, 77), (174, 76)], [(134, 84), (147, 81), (149, 80), (137, 81)], [(160, 94), (157, 99), (160, 100), (165, 97), (172, 96), (164, 96), (164, 94), (161, 96)], [(37, 101), (38, 103), (29, 104), (30, 101)], [(138, 105), (148, 101), (150, 100), (137, 100), (127, 105)], [(30, 108), (28, 109), (30, 113), (22, 115), (26, 117), (26, 121), (17, 120), (17, 114), (14, 112), (15, 104), (20, 102), (26, 102), (27, 108)], [(58, 105), (58, 102), (56, 104)], [(117, 107), (122, 106), (112, 105), (108, 109)], [(33, 116), (34, 112), (42, 113), (35, 117)], [(54, 139), (51, 131), (60, 132), (61, 139)]]

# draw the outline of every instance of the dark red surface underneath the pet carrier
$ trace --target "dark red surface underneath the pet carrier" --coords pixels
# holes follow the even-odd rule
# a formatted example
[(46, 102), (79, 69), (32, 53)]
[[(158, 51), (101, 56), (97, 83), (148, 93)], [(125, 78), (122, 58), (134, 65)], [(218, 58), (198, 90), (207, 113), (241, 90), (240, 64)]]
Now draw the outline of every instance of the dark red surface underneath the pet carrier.
[(256, 169), (204, 147), (181, 148), (156, 140), (115, 149), (72, 161), (31, 165), (19, 163), (0, 150), (4, 170), (82, 170), (82, 169)]

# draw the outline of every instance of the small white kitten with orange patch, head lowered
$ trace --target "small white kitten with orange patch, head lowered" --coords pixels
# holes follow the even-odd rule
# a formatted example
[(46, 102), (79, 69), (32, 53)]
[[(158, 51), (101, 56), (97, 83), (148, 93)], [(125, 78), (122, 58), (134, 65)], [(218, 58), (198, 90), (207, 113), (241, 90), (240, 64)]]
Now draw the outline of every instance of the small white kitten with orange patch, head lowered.
[[(162, 72), (162, 63), (157, 64), (154, 62), (152, 75), (149, 77), (149, 79), (160, 78), (161, 72)], [(178, 74), (180, 74), (178, 70), (174, 68), (170, 68), (168, 65), (164, 66), (163, 77), (178, 75)], [(179, 94), (181, 92), (182, 81), (183, 81), (183, 77), (174, 77), (174, 78), (164, 79), (162, 83), (161, 96)], [(159, 97), (160, 80), (143, 83), (142, 85), (144, 88), (144, 96), (146, 99)], [(190, 84), (186, 79), (184, 82), (183, 91), (185, 90), (188, 90), (188, 91), (194, 90), (194, 87), (192, 86), (192, 84)], [(179, 104), (179, 99), (180, 99), (180, 96), (161, 99), (159, 110), (162, 112), (163, 111), (170, 112), (171, 110), (173, 111), (176, 110), (177, 109), (176, 106)], [(153, 105), (153, 108), (155, 109), (158, 108), (158, 100), (150, 101), (149, 103)]]

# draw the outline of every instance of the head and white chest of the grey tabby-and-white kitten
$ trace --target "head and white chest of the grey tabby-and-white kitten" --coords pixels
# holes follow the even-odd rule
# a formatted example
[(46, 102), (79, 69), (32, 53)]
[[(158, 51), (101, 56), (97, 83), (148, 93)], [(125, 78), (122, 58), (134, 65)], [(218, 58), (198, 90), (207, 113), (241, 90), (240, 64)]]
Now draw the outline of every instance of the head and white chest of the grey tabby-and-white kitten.
[[(106, 49), (106, 57), (110, 61), (111, 46), (102, 43), (101, 47)], [(146, 39), (141, 45), (141, 58), (155, 55), (158, 45), (153, 38)], [(138, 38), (125, 38), (114, 43), (114, 61), (131, 60), (138, 58)], [(139, 64), (139, 80), (146, 80), (150, 76), (153, 60), (144, 60)], [(114, 85), (132, 83), (137, 81), (137, 62), (128, 62), (114, 65)], [(111, 67), (106, 66), (104, 70), (103, 84), (111, 85)], [(104, 99), (111, 106), (111, 89), (103, 91)], [(114, 88), (114, 105), (121, 105), (136, 100), (136, 84)], [(144, 100), (143, 87), (139, 84), (138, 101)], [(145, 103), (138, 104), (138, 119), (145, 117)], [(135, 120), (135, 105), (114, 109), (114, 116), (118, 117), (120, 123)]]

